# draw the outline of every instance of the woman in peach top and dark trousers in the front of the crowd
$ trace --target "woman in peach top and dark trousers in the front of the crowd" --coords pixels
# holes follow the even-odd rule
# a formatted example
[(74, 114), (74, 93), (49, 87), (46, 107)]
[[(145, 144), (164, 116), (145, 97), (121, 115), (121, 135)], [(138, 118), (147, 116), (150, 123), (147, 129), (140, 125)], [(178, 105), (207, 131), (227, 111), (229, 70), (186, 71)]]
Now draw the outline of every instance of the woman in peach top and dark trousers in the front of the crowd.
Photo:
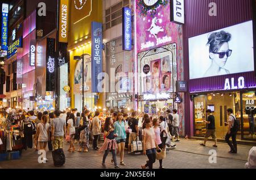
[(144, 119), (146, 127), (142, 131), (143, 136), (143, 154), (147, 155), (148, 161), (145, 165), (142, 165), (142, 169), (153, 169), (153, 164), (156, 158), (156, 149), (159, 149), (158, 143), (155, 140), (155, 131), (151, 128), (152, 123), (150, 118)]

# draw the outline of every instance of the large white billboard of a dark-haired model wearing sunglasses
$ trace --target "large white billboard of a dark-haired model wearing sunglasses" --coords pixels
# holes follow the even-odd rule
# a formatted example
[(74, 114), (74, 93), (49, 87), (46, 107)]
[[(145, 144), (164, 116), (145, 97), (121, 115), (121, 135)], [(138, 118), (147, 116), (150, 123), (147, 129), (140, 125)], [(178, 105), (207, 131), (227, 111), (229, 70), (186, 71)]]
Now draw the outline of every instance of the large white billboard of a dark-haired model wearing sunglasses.
[(190, 79), (254, 71), (253, 22), (189, 38)]

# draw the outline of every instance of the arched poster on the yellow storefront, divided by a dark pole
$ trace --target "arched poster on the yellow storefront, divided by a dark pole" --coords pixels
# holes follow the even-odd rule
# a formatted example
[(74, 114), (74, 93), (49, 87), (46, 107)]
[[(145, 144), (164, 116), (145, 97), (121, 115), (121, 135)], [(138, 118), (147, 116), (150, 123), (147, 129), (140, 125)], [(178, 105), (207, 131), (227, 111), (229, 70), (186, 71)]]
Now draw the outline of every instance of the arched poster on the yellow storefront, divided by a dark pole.
[[(84, 54), (84, 91), (85, 92), (92, 92), (92, 58), (89, 54)], [(82, 61), (78, 61), (76, 64), (75, 69), (75, 76), (74, 76), (74, 93), (80, 94), (82, 92)]]

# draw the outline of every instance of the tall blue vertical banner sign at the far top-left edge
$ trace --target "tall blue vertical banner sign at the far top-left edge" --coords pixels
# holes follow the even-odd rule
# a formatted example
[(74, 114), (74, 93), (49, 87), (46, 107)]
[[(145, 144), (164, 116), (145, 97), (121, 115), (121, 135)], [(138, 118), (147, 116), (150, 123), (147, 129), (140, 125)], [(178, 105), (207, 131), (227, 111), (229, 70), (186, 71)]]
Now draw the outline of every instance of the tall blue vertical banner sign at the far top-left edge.
[(2, 4), (2, 36), (1, 36), (2, 50), (8, 50), (8, 13), (9, 13), (9, 5), (3, 3)]

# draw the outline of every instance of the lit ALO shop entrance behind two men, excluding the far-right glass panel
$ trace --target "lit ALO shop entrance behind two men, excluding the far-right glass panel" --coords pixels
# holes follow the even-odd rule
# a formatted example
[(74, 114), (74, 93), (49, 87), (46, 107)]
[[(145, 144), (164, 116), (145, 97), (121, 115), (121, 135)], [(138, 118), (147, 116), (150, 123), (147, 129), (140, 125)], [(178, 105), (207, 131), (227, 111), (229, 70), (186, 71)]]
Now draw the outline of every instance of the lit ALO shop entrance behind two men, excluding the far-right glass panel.
[[(205, 135), (207, 125), (203, 120), (207, 119), (207, 109), (212, 110), (214, 115), (217, 139), (225, 139), (228, 131), (228, 126), (225, 125), (225, 122), (228, 122), (227, 109), (232, 108), (237, 120), (241, 121), (240, 93), (211, 93), (196, 96), (194, 106), (196, 136), (203, 137)], [(238, 132), (237, 139), (241, 139), (241, 131)]]

